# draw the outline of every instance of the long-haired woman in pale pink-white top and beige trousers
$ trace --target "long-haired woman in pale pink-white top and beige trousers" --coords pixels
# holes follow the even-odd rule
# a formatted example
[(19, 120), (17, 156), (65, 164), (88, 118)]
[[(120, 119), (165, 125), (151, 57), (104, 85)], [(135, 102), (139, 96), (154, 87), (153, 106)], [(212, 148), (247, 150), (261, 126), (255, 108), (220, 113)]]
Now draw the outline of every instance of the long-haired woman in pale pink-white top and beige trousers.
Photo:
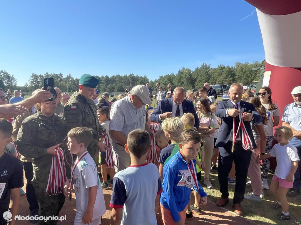
[(198, 116), (200, 119), (200, 127), (197, 130), (201, 133), (201, 138), (205, 150), (205, 175), (204, 184), (207, 188), (212, 188), (212, 184), (209, 180), (210, 169), (211, 169), (211, 157), (214, 147), (214, 132), (219, 129), (219, 124), (217, 123), (216, 116), (211, 111), (209, 107), (208, 100), (205, 98), (200, 98), (197, 100)]

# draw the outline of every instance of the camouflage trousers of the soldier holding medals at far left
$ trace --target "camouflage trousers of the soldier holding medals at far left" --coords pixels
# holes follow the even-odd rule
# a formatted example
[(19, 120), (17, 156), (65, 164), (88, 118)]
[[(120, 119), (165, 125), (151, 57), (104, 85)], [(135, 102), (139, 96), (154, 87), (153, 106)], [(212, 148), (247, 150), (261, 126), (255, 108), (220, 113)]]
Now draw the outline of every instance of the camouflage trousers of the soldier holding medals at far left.
[[(47, 183), (37, 183), (33, 180), (32, 184), (40, 206), (39, 216), (59, 216), (59, 212), (65, 203), (64, 193), (49, 196), (46, 193)], [(44, 220), (38, 221), (39, 225), (55, 225), (56, 223), (56, 220), (47, 220), (46, 222)]]

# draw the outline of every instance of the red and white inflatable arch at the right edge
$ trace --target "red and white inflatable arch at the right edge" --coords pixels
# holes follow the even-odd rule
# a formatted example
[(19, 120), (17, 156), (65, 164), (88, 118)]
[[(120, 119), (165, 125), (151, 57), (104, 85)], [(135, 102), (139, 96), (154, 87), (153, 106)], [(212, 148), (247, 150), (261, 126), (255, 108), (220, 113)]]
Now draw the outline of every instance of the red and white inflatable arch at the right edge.
[(301, 0), (245, 1), (256, 7), (265, 71), (271, 71), (268, 87), (282, 114), (293, 102), (293, 88), (301, 86)]

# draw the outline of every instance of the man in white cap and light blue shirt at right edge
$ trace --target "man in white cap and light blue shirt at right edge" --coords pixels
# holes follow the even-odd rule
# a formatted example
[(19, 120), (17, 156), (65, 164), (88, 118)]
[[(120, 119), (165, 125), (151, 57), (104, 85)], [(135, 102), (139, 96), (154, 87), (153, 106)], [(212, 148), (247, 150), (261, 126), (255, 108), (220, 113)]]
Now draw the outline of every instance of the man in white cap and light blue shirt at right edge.
[[(293, 130), (293, 139), (290, 143), (298, 150), (298, 156), (301, 156), (301, 86), (297, 86), (291, 92), (294, 102), (285, 106), (282, 114), (282, 126)], [(299, 166), (295, 172), (293, 188), (287, 192), (287, 196), (294, 197), (300, 193), (300, 171)]]

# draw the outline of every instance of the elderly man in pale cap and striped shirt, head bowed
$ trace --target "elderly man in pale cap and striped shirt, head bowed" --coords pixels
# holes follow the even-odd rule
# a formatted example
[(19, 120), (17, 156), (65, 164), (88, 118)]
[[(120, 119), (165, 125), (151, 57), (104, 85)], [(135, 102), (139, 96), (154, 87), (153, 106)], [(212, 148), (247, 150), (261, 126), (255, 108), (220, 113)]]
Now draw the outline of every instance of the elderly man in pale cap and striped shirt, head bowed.
[(131, 164), (131, 158), (126, 153), (124, 145), (129, 132), (135, 129), (145, 129), (145, 105), (151, 104), (149, 90), (145, 85), (133, 87), (130, 94), (112, 105), (110, 112), (110, 136), (113, 140), (113, 149), (119, 156), (119, 168), (126, 169)]

